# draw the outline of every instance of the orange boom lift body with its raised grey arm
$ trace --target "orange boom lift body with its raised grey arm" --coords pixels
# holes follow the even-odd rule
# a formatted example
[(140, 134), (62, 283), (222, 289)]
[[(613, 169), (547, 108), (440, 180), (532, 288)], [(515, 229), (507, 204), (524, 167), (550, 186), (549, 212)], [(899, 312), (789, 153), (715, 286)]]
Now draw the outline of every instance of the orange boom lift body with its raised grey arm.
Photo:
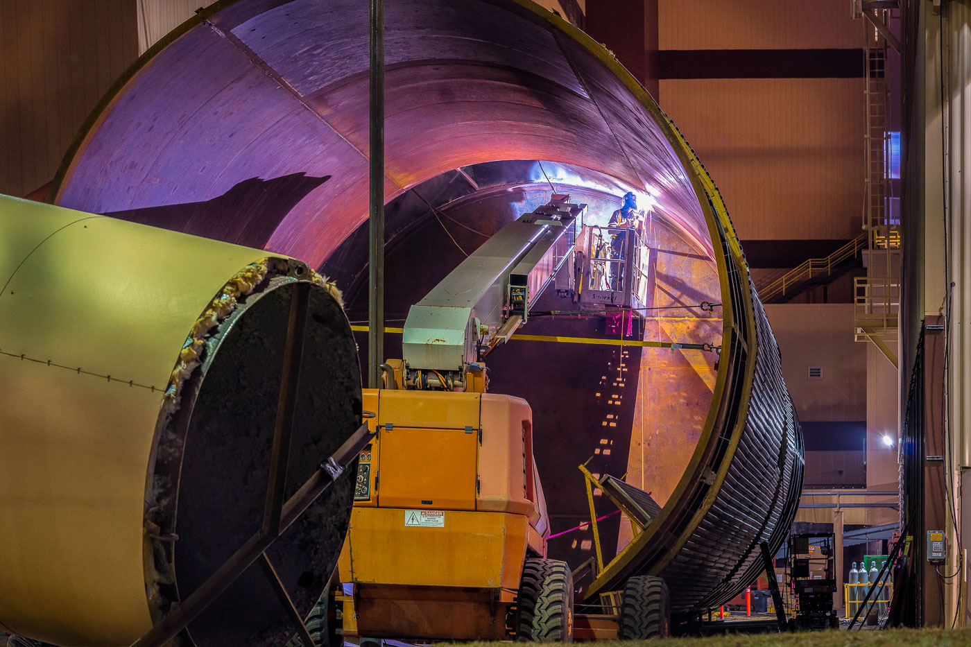
[(546, 559), (532, 412), (485, 392), (480, 358), (572, 258), (584, 207), (553, 195), (486, 241), (412, 307), (404, 358), (364, 391), (378, 434), (339, 566), (342, 637), (571, 640), (572, 575)]

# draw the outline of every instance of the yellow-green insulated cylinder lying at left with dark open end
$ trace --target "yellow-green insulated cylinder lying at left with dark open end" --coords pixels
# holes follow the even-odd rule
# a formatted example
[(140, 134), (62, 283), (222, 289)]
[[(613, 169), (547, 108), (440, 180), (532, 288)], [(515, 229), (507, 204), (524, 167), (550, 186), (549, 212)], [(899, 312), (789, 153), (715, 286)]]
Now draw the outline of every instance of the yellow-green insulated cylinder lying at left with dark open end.
[[(310, 286), (287, 496), (359, 425), (350, 324), (283, 255), (4, 196), (0, 241), (0, 630), (128, 645), (260, 527), (291, 292)], [(304, 612), (351, 497), (349, 471), (268, 551)], [(251, 567), (183, 644), (293, 633)]]

